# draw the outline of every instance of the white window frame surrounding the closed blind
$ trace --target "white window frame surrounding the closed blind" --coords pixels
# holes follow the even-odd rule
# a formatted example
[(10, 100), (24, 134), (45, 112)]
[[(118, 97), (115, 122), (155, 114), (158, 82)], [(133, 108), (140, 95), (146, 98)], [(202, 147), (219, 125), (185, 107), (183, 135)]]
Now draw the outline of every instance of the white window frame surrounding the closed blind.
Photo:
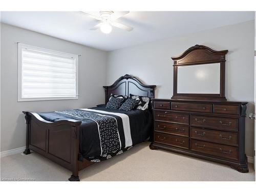
[[(50, 53), (53, 55), (60, 55), (64, 57), (73, 57), (75, 58), (75, 66), (76, 66), (76, 96), (75, 97), (67, 97), (67, 96), (59, 96), (59, 97), (40, 97), (40, 98), (22, 98), (22, 50), (23, 49), (31, 49), (38, 52)], [(36, 46), (21, 44), (18, 42), (18, 94), (17, 101), (46, 101), (46, 100), (73, 100), (78, 99), (78, 55), (65, 53), (60, 51), (55, 51), (51, 49), (40, 48)]]

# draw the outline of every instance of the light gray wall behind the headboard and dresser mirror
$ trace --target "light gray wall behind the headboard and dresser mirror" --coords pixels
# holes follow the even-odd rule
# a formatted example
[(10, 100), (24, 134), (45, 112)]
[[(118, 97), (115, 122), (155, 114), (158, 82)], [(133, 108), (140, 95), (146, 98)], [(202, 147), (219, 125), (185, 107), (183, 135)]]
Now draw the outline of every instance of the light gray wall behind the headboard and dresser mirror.
[[(228, 49), (226, 98), (248, 101), (247, 114), (254, 111), (254, 20), (111, 51), (106, 68), (107, 83), (126, 73), (132, 74), (146, 84), (156, 84), (156, 98), (170, 98), (173, 95), (173, 60), (170, 57), (196, 44), (215, 50)], [(253, 130), (253, 120), (247, 117), (245, 150), (251, 157)]]

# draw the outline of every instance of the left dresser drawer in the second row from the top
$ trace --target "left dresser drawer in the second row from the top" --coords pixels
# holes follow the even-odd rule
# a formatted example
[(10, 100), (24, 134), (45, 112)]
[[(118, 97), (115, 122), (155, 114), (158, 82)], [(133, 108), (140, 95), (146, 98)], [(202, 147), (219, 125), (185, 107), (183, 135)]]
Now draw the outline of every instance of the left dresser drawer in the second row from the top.
[(188, 115), (168, 111), (155, 111), (155, 120), (188, 124)]

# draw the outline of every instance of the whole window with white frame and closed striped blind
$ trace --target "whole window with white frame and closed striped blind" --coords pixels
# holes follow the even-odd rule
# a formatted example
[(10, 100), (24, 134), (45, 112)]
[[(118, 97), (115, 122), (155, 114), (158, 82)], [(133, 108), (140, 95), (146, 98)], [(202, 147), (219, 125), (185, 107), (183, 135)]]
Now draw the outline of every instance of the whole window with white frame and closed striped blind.
[(78, 99), (78, 55), (18, 43), (18, 101)]

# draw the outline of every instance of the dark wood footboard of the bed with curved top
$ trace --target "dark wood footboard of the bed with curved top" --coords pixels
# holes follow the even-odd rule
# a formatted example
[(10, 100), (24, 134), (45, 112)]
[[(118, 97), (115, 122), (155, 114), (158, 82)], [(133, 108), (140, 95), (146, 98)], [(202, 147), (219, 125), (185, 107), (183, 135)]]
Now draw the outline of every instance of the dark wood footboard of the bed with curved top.
[(78, 161), (79, 126), (81, 121), (67, 119), (50, 122), (34, 112), (23, 112), (26, 116), (27, 138), (24, 154), (33, 150), (42, 156), (72, 171), (70, 181), (79, 181), (78, 171), (92, 164)]

